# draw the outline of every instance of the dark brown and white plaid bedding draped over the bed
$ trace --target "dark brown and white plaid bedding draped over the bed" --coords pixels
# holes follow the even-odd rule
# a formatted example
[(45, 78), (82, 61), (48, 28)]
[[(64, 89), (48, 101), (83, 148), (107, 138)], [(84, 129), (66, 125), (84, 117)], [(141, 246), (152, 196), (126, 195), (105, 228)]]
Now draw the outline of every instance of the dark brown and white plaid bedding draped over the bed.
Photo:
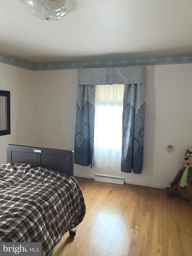
[(32, 164), (0, 165), (0, 242), (42, 242), (48, 256), (84, 215), (72, 176)]

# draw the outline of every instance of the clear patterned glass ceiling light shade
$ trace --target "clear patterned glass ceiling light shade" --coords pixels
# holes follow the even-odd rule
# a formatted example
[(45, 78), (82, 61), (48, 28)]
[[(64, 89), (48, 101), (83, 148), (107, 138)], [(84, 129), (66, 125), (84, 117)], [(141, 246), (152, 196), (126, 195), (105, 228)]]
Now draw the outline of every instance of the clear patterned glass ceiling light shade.
[(26, 10), (40, 20), (57, 21), (69, 13), (69, 10), (62, 3), (50, 0), (32, 0), (26, 6)]

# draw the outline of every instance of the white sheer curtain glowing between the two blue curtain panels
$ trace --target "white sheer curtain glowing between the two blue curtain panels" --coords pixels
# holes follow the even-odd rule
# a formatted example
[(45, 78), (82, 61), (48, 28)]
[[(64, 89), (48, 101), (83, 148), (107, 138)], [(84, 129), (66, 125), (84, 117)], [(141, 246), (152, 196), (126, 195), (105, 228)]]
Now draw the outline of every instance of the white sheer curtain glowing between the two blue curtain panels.
[(95, 163), (121, 168), (124, 84), (96, 85)]

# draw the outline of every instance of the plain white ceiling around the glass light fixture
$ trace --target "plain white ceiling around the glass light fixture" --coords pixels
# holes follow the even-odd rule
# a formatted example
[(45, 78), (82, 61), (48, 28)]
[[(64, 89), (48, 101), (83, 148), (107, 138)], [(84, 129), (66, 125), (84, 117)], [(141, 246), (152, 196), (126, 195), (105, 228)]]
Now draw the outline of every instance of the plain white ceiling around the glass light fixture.
[(30, 15), (28, 1), (0, 0), (0, 53), (48, 62), (192, 52), (189, 0), (60, 0), (69, 14), (57, 22)]

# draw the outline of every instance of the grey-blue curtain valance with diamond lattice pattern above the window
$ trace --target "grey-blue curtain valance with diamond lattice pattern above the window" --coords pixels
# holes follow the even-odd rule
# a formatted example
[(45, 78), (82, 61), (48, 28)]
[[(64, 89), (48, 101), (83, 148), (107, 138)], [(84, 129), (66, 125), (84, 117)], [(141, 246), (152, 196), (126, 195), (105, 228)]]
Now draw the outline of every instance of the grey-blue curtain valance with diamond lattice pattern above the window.
[(146, 83), (146, 67), (79, 68), (79, 85)]

